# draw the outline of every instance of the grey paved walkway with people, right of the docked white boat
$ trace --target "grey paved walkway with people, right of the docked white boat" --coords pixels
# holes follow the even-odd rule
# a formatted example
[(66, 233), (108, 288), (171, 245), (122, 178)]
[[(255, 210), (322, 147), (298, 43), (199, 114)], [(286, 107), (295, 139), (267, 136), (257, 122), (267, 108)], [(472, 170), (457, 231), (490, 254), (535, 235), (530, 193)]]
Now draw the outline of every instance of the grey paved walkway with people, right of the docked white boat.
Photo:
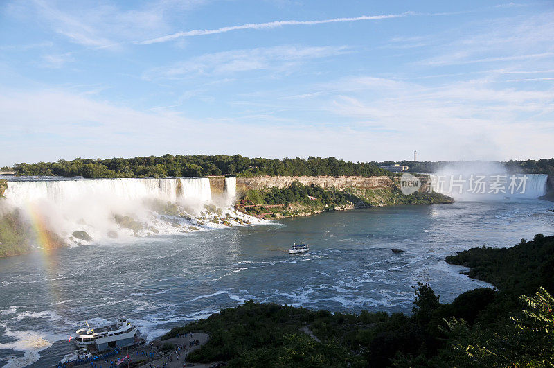
[[(163, 340), (157, 342), (159, 347), (162, 347), (163, 344), (170, 343), (175, 345), (175, 349), (181, 347), (181, 351), (177, 353), (175, 350), (167, 353), (161, 352), (163, 358), (159, 358), (148, 364), (141, 365), (141, 368), (150, 368), (150, 367), (163, 367), (163, 363), (166, 363), (166, 368), (183, 368), (184, 363), (186, 363), (186, 357), (190, 351), (195, 351), (199, 347), (202, 347), (203, 344), (208, 342), (209, 336), (207, 333), (187, 333), (185, 337), (181, 336), (180, 338), (170, 338), (168, 340)], [(197, 345), (190, 347), (190, 342), (198, 340)], [(195, 367), (209, 367), (209, 365), (195, 365)]]

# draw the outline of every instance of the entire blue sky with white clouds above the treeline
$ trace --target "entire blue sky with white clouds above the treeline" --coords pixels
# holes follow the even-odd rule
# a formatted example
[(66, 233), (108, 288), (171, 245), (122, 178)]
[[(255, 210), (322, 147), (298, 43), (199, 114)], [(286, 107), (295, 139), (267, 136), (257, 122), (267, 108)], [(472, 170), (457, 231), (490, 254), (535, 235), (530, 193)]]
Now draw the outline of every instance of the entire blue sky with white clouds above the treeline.
[(3, 1), (0, 166), (554, 156), (552, 1)]

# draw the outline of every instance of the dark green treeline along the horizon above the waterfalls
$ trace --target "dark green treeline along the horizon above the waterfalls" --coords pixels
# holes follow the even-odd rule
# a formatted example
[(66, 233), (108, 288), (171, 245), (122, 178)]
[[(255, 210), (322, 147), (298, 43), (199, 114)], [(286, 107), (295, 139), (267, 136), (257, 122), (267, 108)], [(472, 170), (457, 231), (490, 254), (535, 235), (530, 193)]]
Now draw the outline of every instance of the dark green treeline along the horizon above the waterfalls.
[[(475, 164), (481, 163), (474, 161)], [(74, 159), (37, 164), (15, 164), (16, 175), (54, 175), (62, 177), (205, 177), (209, 175), (236, 176), (285, 176), (285, 175), (391, 175), (379, 166), (402, 164), (418, 173), (431, 173), (443, 166), (472, 164), (456, 161), (384, 161), (350, 162), (334, 157), (309, 157), (308, 159), (265, 159), (241, 155), (164, 155), (160, 157), (134, 157), (132, 159)], [(554, 159), (494, 162), (510, 172), (528, 174), (554, 174)], [(10, 169), (10, 168), (5, 168)]]

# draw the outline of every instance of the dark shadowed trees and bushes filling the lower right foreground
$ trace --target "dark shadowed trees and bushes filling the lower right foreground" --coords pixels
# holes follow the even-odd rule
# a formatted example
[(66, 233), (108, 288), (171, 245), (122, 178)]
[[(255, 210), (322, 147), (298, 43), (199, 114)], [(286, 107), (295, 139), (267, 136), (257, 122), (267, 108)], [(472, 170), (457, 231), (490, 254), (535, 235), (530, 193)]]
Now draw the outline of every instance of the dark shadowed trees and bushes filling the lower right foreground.
[(188, 359), (230, 367), (552, 367), (554, 236), (470, 249), (448, 261), (467, 264), (470, 275), (499, 289), (470, 290), (441, 304), (420, 283), (411, 316), (247, 301), (162, 339), (206, 331), (211, 339)]

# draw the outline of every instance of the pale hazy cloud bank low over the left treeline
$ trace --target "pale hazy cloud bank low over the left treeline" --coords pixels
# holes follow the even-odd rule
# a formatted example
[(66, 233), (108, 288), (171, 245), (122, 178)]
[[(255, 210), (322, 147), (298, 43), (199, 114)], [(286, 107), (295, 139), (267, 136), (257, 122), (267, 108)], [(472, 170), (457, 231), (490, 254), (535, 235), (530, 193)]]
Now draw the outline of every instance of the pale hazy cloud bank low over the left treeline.
[[(0, 89), (0, 114), (10, 122), (0, 136), (6, 150), (1, 165), (75, 157), (183, 154), (184, 150), (191, 154), (240, 152), (252, 157), (283, 157), (287, 152), (293, 157), (310, 154), (347, 159), (367, 153), (367, 140), (349, 128), (296, 122), (294, 134), (282, 124), (272, 126), (268, 134), (267, 126), (242, 119), (193, 120), (166, 109), (141, 112), (63, 90)], [(252, 114), (244, 120), (270, 119), (279, 120), (272, 114)], [(152, 130), (152, 126), (157, 128)], [(33, 144), (21, 151), (22, 142), (31, 136)], [(346, 146), (348, 152), (343, 149)]]

